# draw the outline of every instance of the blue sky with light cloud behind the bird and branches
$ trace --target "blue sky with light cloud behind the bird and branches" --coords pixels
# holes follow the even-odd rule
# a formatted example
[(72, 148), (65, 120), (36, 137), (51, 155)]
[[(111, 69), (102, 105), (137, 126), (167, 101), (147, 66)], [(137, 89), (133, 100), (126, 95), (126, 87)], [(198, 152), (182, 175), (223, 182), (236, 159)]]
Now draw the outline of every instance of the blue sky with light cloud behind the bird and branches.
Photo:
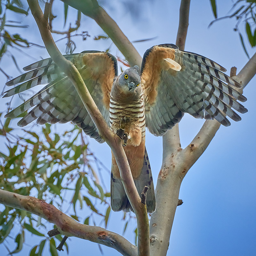
[[(134, 2), (134, 9), (120, 4), (117, 0), (111, 1), (109, 5), (104, 4), (105, 2), (101, 2), (102, 6), (117, 22), (129, 40), (156, 37), (151, 41), (134, 44), (141, 56), (152, 45), (175, 43), (180, 1), (148, 1), (148, 4)], [(227, 15), (232, 1), (216, 2), (218, 16)], [(61, 12), (59, 16), (61, 16), (63, 10), (54, 9), (54, 13), (59, 11)], [(76, 13), (71, 8), (69, 11), (69, 18), (72, 13)], [(131, 15), (131, 12), (134, 15)], [(210, 1), (191, 1), (185, 50), (196, 52), (216, 61), (227, 68), (227, 72), (232, 66), (236, 66), (238, 71), (241, 70), (248, 58), (242, 49), (238, 34), (233, 31), (235, 20), (218, 21), (208, 28), (213, 18)], [(92, 37), (103, 34), (103, 31), (90, 18), (83, 16), (82, 21), (84, 21), (85, 27), (81, 28), (80, 32), (88, 30)], [(32, 24), (34, 21), (30, 17), (29, 20), (24, 19), (24, 22)], [(54, 23), (54, 26), (57, 27), (57, 23)], [(62, 26), (61, 24), (60, 28)], [(244, 27), (245, 25), (242, 24), (241, 30)], [(29, 41), (42, 44), (36, 28), (33, 30), (31, 28), (28, 31)], [(76, 52), (106, 50), (111, 44), (110, 40), (94, 41), (92, 37), (86, 41), (77, 40)], [(62, 44), (58, 44), (62, 53), (65, 51), (63, 42), (64, 40)], [(250, 56), (252, 56), (255, 49), (250, 49), (247, 39), (245, 43)], [(29, 51), (34, 55), (34, 60), (18, 52), (13, 52), (19, 57), (20, 68), (39, 60), (40, 57), (48, 57), (48, 53), (44, 49), (31, 48)], [(114, 45), (111, 46), (111, 53), (121, 56)], [(10, 61), (10, 56), (6, 56), (0, 65), (13, 77), (19, 75)], [(5, 76), (0, 74), (0, 79), (4, 84)], [(244, 90), (244, 95), (248, 99), (244, 106), (248, 108), (248, 113), (242, 115), (242, 121), (236, 123), (231, 120), (231, 126), (220, 127), (204, 154), (184, 178), (179, 196), (184, 203), (176, 210), (167, 255), (255, 255), (255, 83), (256, 79), (253, 78)], [(19, 104), (18, 98), (15, 100), (13, 106)], [(5, 99), (1, 99), (1, 110), (5, 109), (5, 102)], [(202, 120), (185, 115), (180, 122), (182, 148), (190, 143), (202, 124)], [(101, 161), (110, 169), (111, 153), (108, 145), (106, 143), (99, 144), (92, 139), (89, 140), (89, 145), (96, 156), (100, 157)], [(156, 186), (157, 175), (162, 164), (162, 139), (147, 133), (146, 147)], [(107, 174), (104, 175), (109, 187), (110, 178)], [(111, 212), (108, 229), (122, 233), (122, 216), (122, 213)], [(132, 243), (134, 243), (135, 225), (133, 221), (124, 235)], [(36, 236), (26, 237), (25, 242), (33, 245), (38, 240)], [(69, 255), (82, 254), (85, 248), (88, 255), (91, 253), (100, 255), (97, 244), (77, 238), (71, 238), (68, 243)], [(24, 248), (26, 249), (19, 255), (28, 254), (29, 247), (25, 246)], [(3, 255), (7, 254), (2, 244), (0, 244), (0, 249), (3, 250)], [(102, 246), (102, 249), (104, 255), (120, 255), (111, 248)], [(48, 252), (45, 251), (44, 255), (48, 255)], [(66, 255), (66, 252), (62, 252), (60, 255)]]

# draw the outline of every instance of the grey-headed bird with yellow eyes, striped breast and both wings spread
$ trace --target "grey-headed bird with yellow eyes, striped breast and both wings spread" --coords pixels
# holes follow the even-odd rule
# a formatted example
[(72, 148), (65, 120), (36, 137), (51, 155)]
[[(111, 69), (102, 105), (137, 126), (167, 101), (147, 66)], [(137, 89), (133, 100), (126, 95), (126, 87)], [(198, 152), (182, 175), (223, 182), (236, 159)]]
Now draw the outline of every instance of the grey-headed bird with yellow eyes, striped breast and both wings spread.
[[(196, 118), (216, 119), (229, 126), (226, 116), (241, 120), (233, 109), (247, 112), (236, 101), (244, 102), (246, 98), (233, 88), (241, 88), (241, 85), (223, 73), (227, 71), (225, 68), (196, 53), (179, 50), (175, 44), (160, 44), (148, 49), (143, 56), (140, 74), (139, 67), (134, 66), (118, 76), (116, 58), (108, 52), (84, 51), (65, 55), (65, 58), (79, 70), (112, 131), (127, 133), (128, 137), (123, 137), (124, 151), (139, 195), (144, 186), (149, 187), (146, 201), (149, 213), (155, 211), (156, 202), (145, 148), (146, 127), (154, 135), (163, 136), (180, 122), (184, 113)], [(104, 142), (75, 87), (51, 58), (23, 69), (28, 72), (6, 83), (8, 86), (18, 85), (8, 90), (4, 97), (38, 84), (46, 85), (5, 117), (14, 118), (33, 107), (18, 122), (19, 126), (35, 119), (38, 124), (71, 121), (90, 137)], [(111, 207), (114, 211), (132, 210), (113, 154)]]

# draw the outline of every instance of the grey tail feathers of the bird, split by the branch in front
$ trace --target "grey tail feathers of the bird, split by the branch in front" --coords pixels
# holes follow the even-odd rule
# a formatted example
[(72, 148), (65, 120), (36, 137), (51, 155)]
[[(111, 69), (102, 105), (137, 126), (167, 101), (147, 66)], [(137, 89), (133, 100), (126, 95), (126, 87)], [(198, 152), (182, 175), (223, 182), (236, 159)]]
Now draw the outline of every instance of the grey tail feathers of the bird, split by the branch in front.
[[(148, 160), (147, 150), (145, 148), (144, 163), (138, 178), (134, 179), (135, 186), (139, 195), (145, 186), (148, 186), (148, 193), (146, 197), (146, 206), (148, 213), (155, 212), (156, 199), (154, 184), (152, 179), (151, 168)], [(128, 197), (126, 196), (123, 183), (120, 179), (116, 178), (111, 172), (111, 208), (113, 211), (118, 212), (123, 210), (124, 212), (133, 212), (132, 205), (130, 204)]]

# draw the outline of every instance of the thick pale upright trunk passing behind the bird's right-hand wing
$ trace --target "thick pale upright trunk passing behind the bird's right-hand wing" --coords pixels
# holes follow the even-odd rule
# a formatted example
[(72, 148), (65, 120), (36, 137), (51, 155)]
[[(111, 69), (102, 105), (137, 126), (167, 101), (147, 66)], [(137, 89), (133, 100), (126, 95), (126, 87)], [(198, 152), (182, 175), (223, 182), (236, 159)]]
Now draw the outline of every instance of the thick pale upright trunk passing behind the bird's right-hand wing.
[[(184, 50), (188, 30), (190, 0), (180, 3), (180, 22), (176, 44)], [(179, 166), (182, 164), (179, 126), (176, 124), (163, 136), (163, 163), (156, 184), (156, 207), (152, 213), (149, 226), (150, 252), (152, 255), (166, 255), (172, 223), (179, 201), (181, 176)]]

